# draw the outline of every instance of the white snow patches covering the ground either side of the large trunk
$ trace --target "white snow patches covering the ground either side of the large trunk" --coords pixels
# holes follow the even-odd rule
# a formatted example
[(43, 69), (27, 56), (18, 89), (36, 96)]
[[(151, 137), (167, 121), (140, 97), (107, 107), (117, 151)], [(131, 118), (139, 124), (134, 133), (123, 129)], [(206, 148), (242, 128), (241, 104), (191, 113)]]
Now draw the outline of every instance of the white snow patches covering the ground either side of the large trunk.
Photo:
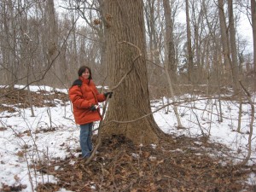
[[(21, 85), (16, 87), (23, 88)], [(30, 86), (30, 90), (52, 91), (53, 89), (48, 86)], [(67, 93), (67, 90), (58, 89), (58, 91)], [(207, 100), (200, 96), (196, 99), (195, 97), (184, 97), (194, 101), (183, 102), (177, 108), (185, 129), (177, 129), (177, 119), (173, 108), (169, 107), (169, 109), (163, 108), (154, 113), (154, 119), (161, 130), (177, 137), (182, 135), (189, 137), (210, 136), (211, 141), (228, 146), (230, 151), (236, 153), (236, 157), (242, 158), (247, 154), (251, 120), (250, 105), (242, 105), (241, 133), (238, 133), (236, 131), (238, 103), (221, 102), (224, 118), (223, 122), (220, 122), (219, 115), (217, 115), (220, 113), (218, 100)], [(177, 99), (182, 101), (182, 98)], [(253, 101), (255, 103), (255, 96)], [(1, 185), (3, 183), (9, 186), (22, 184), (26, 185), (26, 188), (22, 190), (23, 192), (31, 192), (32, 186), (35, 188), (38, 183), (54, 183), (56, 181), (55, 177), (42, 176), (39, 172), (34, 172), (35, 167), (28, 165), (37, 165), (38, 160), (47, 163), (52, 159), (64, 160), (70, 154), (79, 155), (75, 152), (75, 149), (79, 148), (79, 127), (73, 121), (70, 102), (63, 103), (60, 100), (55, 100), (55, 103), (56, 107), (34, 108), (35, 117), (31, 117), (30, 108), (16, 108), (17, 112), (15, 113), (7, 111), (0, 113)], [(166, 103), (166, 98), (152, 101), (152, 111), (154, 112)], [(254, 118), (253, 148), (249, 164), (255, 164), (256, 161), (255, 121)], [(96, 123), (95, 128), (97, 125)], [(56, 166), (55, 169), (57, 168)], [(248, 182), (256, 183), (254, 174), (248, 178)], [(61, 189), (60, 191), (67, 190)]]

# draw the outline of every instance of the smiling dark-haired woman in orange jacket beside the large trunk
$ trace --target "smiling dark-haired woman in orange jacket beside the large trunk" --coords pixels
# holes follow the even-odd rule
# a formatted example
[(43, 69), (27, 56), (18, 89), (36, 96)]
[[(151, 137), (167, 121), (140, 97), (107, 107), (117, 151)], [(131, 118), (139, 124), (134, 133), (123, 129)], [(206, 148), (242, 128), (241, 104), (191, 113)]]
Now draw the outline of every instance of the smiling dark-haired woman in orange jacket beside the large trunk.
[(100, 109), (97, 108), (99, 102), (104, 102), (108, 95), (113, 92), (100, 94), (96, 90), (96, 85), (92, 81), (90, 67), (79, 68), (79, 79), (73, 82), (69, 89), (69, 98), (73, 103), (73, 115), (76, 124), (80, 125), (80, 146), (82, 156), (90, 157), (92, 150), (92, 125), (96, 120), (102, 119)]

